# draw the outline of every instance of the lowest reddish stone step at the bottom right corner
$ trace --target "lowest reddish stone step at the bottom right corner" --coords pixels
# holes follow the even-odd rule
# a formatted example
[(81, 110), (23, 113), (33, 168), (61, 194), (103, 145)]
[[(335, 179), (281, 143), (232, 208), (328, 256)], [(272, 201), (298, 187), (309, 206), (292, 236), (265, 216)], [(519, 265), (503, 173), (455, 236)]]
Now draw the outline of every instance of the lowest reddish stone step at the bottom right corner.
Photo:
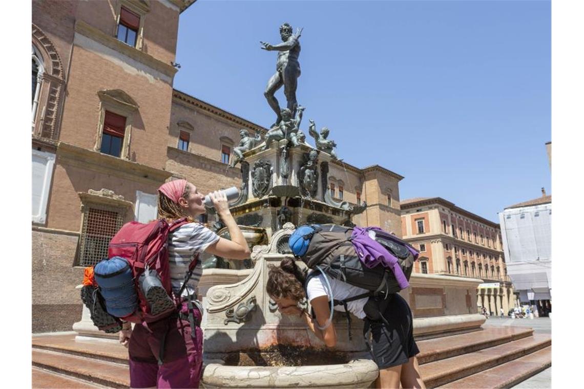
[(510, 388), (551, 366), (551, 346), (440, 388)]

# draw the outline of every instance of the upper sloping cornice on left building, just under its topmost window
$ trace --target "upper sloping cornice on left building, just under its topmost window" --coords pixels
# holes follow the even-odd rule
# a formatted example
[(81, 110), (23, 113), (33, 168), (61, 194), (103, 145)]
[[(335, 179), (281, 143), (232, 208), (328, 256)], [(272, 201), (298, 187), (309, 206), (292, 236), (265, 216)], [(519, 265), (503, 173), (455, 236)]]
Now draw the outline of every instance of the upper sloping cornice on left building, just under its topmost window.
[(111, 48), (112, 50), (121, 52), (121, 54), (127, 55), (127, 57), (130, 57), (135, 61), (150, 66), (150, 68), (155, 69), (156, 71), (159, 71), (166, 76), (169, 76), (171, 79), (178, 71), (178, 69), (176, 69), (174, 66), (166, 64), (165, 62), (162, 62), (159, 59), (156, 59), (151, 55), (138, 50), (137, 48), (130, 47), (129, 45), (117, 40), (113, 36), (109, 36), (103, 31), (96, 29), (83, 20), (77, 20), (77, 22), (75, 22), (75, 32), (91, 38), (92, 40), (95, 40), (96, 42), (101, 43)]

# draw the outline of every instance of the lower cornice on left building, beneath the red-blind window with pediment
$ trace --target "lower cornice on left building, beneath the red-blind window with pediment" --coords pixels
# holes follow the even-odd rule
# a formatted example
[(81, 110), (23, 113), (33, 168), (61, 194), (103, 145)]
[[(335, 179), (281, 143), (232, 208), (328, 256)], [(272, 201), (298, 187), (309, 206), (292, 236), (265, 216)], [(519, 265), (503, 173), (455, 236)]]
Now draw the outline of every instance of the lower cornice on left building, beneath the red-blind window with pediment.
[(149, 183), (152, 181), (164, 183), (167, 178), (172, 176), (172, 173), (166, 170), (155, 169), (145, 164), (84, 149), (65, 142), (58, 143), (57, 157), (59, 160), (65, 160), (68, 164), (77, 164), (113, 176), (128, 177)]

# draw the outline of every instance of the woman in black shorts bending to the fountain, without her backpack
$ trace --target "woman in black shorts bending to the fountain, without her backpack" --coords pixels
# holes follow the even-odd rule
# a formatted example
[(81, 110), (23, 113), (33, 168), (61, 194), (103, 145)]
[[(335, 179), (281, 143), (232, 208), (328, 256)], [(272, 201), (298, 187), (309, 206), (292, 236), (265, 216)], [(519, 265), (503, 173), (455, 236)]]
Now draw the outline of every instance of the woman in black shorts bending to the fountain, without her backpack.
[[(307, 327), (326, 346), (334, 347), (337, 334), (335, 325), (331, 322), (329, 296), (333, 300), (343, 300), (362, 295), (367, 290), (339, 279), (325, 278), (323, 274), (311, 275), (308, 283), (306, 279), (307, 274), (298, 268), (296, 262), (292, 258), (285, 258), (279, 267), (270, 267), (266, 283), (267, 294), (276, 302), (281, 314), (303, 318)], [(298, 306), (305, 297), (314, 311), (314, 319)], [(376, 387), (399, 388), (401, 383), (404, 388), (425, 388), (416, 359), (419, 349), (413, 339), (412, 311), (398, 293), (388, 295), (387, 299), (387, 307), (380, 313), (391, 328), (381, 322), (379, 325), (370, 322), (373, 335), (371, 352), (379, 367)], [(366, 324), (369, 319), (364, 307), (368, 300), (364, 297), (346, 303), (346, 309), (354, 316), (366, 320)], [(340, 306), (338, 309), (345, 311)]]

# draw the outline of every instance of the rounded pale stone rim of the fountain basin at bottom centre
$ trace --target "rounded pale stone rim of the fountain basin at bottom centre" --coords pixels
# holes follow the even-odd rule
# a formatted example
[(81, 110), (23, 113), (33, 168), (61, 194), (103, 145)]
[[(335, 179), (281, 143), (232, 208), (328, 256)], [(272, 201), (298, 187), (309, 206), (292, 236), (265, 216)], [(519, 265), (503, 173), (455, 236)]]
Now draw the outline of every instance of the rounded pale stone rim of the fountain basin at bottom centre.
[(360, 353), (339, 365), (227, 366), (209, 363), (201, 383), (204, 388), (367, 388), (378, 374), (376, 363)]

